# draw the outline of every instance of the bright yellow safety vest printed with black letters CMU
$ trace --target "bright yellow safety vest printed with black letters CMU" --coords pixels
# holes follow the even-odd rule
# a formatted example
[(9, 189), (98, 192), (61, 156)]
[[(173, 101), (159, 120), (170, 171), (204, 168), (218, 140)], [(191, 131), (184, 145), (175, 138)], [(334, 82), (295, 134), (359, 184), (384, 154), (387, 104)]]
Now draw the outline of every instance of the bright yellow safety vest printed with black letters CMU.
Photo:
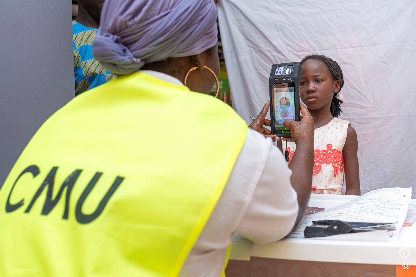
[(0, 189), (0, 276), (177, 276), (246, 133), (225, 103), (143, 73), (77, 96)]

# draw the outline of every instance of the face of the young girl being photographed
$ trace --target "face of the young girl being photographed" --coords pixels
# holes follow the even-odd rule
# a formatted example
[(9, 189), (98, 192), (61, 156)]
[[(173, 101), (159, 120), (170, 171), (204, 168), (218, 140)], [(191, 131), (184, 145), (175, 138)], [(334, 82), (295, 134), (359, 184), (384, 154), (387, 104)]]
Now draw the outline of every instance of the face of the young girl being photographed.
[(331, 106), (334, 93), (339, 91), (339, 81), (334, 81), (323, 61), (309, 59), (302, 64), (300, 99), (309, 110)]

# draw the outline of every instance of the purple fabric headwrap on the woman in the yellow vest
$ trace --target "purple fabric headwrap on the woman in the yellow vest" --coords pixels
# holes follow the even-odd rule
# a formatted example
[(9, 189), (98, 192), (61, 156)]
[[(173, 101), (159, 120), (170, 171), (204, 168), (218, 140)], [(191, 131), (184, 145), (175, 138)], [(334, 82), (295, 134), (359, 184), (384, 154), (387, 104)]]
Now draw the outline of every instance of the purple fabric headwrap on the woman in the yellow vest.
[(106, 0), (92, 54), (112, 74), (131, 74), (213, 47), (216, 20), (213, 0)]

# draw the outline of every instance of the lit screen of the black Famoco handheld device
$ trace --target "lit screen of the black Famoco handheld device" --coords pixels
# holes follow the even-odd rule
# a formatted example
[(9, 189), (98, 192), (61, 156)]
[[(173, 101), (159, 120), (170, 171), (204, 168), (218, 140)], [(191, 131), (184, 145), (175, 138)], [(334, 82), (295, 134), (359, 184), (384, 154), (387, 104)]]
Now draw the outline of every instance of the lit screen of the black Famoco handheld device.
[(290, 129), (283, 127), (283, 122), (286, 119), (295, 120), (295, 83), (275, 84), (272, 93), (275, 130), (280, 130), (283, 134), (288, 133)]

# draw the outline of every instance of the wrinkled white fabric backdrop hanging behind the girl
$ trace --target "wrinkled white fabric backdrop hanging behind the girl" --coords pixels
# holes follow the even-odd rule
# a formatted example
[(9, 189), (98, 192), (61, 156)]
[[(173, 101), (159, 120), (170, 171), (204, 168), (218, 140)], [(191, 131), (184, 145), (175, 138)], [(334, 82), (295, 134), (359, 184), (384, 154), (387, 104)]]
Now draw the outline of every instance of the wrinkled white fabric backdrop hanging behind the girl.
[(272, 64), (324, 54), (344, 73), (340, 118), (358, 134), (362, 194), (413, 186), (416, 1), (219, 0), (235, 110), (250, 123), (269, 99)]

